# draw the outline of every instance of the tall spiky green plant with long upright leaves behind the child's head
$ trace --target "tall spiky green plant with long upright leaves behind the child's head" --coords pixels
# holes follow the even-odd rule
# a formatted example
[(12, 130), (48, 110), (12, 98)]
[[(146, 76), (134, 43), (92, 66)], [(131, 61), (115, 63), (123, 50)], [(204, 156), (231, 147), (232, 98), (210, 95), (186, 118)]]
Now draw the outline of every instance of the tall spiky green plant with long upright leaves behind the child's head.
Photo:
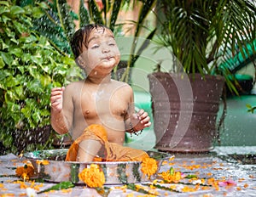
[[(119, 13), (122, 8), (129, 7), (132, 3), (141, 3), (138, 19), (136, 21), (129, 21), (134, 24), (134, 35), (131, 45), (130, 57), (125, 65), (125, 73), (120, 77), (121, 81), (128, 82), (129, 69), (135, 65), (135, 62), (143, 53), (143, 50), (148, 47), (149, 40), (154, 37), (156, 28), (148, 30), (148, 36), (145, 42), (140, 47), (137, 47), (137, 40), (140, 36), (142, 29), (147, 29), (143, 23), (147, 18), (147, 15), (154, 7), (156, 0), (148, 1), (131, 1), (131, 0), (115, 0), (115, 1), (102, 1), (102, 7), (100, 7), (95, 0), (88, 1), (88, 10), (84, 8), (84, 1), (81, 0), (79, 3), (79, 14), (74, 14), (66, 0), (55, 0), (52, 3), (49, 1), (37, 1), (36, 3), (44, 11), (44, 16), (40, 19), (34, 20), (34, 28), (40, 34), (49, 38), (55, 48), (61, 53), (67, 53), (73, 56), (69, 41), (70, 37), (75, 31), (75, 25), (73, 20), (79, 20), (79, 26), (90, 23), (98, 23), (108, 26), (116, 36), (119, 36), (119, 32), (122, 30), (123, 23), (118, 23)], [(136, 4), (137, 5), (137, 4)], [(135, 6), (135, 5), (131, 5)], [(116, 70), (119, 68), (116, 67)], [(116, 75), (114, 75), (116, 76)]]

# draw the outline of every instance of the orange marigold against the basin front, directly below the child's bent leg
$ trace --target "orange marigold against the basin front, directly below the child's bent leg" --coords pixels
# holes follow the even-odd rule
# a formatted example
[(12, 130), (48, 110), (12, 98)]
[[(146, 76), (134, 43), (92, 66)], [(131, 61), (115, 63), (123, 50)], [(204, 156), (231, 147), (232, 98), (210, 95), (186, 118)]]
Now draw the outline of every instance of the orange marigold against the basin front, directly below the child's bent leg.
[(79, 178), (90, 188), (102, 187), (105, 183), (104, 173), (96, 164), (91, 164), (90, 168), (84, 168), (84, 170), (79, 173)]

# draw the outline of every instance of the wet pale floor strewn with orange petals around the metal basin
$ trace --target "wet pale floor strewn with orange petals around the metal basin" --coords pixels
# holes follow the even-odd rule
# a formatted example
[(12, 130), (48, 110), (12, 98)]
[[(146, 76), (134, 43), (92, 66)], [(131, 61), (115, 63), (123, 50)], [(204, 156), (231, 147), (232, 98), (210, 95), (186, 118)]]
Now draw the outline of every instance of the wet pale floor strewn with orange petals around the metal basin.
[[(217, 147), (209, 154), (175, 155), (174, 160), (164, 160), (160, 172), (173, 167), (175, 171), (197, 178), (182, 178), (178, 183), (161, 184), (165, 189), (141, 185), (143, 189), (158, 196), (256, 196), (256, 167), (253, 165), (256, 147)], [(235, 160), (234, 154), (250, 155), (244, 160)], [(54, 183), (32, 183), (15, 177), (15, 168), (24, 165), (24, 158), (15, 155), (0, 156), (1, 196), (26, 195), (26, 187), (39, 192), (49, 189)], [(20, 180), (20, 181), (18, 181)], [(146, 196), (122, 185), (106, 185), (111, 188), (108, 196)], [(169, 190), (168, 190), (169, 189)], [(171, 189), (173, 189), (171, 191)], [(71, 189), (49, 191), (38, 196), (100, 196), (95, 189), (76, 186)]]

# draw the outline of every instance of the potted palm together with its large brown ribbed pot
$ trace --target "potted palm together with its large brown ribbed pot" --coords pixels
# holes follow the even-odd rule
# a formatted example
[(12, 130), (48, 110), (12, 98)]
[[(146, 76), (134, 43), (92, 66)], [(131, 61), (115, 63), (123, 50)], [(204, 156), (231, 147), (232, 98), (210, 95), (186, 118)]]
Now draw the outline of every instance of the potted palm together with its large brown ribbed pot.
[[(243, 0), (162, 0), (157, 5), (160, 37), (156, 42), (160, 48), (164, 46), (170, 50), (173, 65), (169, 73), (154, 72), (148, 77), (156, 147), (209, 151), (212, 139), (219, 137), (226, 114), (224, 102), (216, 127), (218, 104), (223, 87), (226, 87), (224, 79), (230, 90), (238, 93), (232, 72), (221, 63), (230, 54), (236, 58), (237, 51), (243, 59), (255, 59), (255, 4)], [(184, 82), (187, 80), (187, 90), (191, 92), (177, 91), (178, 87), (186, 89)], [(160, 85), (165, 88), (163, 91), (159, 91)], [(181, 92), (186, 93), (183, 101)], [(165, 129), (162, 129), (165, 117), (161, 113), (166, 110), (162, 106), (167, 105), (163, 95), (169, 98), (168, 106), (172, 108), (171, 113), (166, 112), (171, 115)], [(186, 123), (189, 124), (187, 127), (184, 126)], [(184, 136), (180, 137), (181, 133)]]

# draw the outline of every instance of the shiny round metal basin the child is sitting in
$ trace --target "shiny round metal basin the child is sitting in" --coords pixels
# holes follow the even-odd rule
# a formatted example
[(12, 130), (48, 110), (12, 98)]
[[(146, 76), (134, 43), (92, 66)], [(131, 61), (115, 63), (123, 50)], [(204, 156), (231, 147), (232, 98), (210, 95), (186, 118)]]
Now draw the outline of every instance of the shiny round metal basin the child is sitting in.
[[(154, 158), (158, 164), (158, 170), (163, 160), (170, 158), (166, 153), (148, 151), (148, 155)], [(61, 183), (70, 181), (75, 184), (84, 184), (79, 180), (79, 172), (90, 164), (97, 164), (104, 172), (105, 184), (142, 183), (150, 181), (148, 176), (141, 171), (140, 161), (104, 161), (104, 162), (74, 162), (65, 161), (67, 149), (49, 149), (33, 151), (24, 154), (31, 160), (38, 177), (45, 181)], [(44, 162), (43, 162), (44, 160)], [(45, 162), (47, 160), (47, 162)], [(153, 180), (157, 172), (150, 177)]]

